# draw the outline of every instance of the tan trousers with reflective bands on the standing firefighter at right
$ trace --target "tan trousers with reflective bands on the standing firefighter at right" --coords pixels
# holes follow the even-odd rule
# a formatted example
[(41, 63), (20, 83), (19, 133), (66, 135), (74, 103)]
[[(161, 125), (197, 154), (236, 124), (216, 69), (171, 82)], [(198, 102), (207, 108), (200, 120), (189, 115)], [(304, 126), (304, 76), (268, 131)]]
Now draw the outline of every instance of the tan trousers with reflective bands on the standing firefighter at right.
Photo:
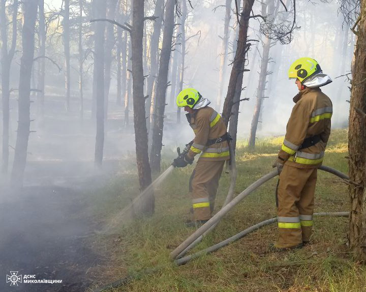
[(291, 247), (310, 240), (317, 171), (317, 168), (284, 165), (277, 190), (277, 247)]

